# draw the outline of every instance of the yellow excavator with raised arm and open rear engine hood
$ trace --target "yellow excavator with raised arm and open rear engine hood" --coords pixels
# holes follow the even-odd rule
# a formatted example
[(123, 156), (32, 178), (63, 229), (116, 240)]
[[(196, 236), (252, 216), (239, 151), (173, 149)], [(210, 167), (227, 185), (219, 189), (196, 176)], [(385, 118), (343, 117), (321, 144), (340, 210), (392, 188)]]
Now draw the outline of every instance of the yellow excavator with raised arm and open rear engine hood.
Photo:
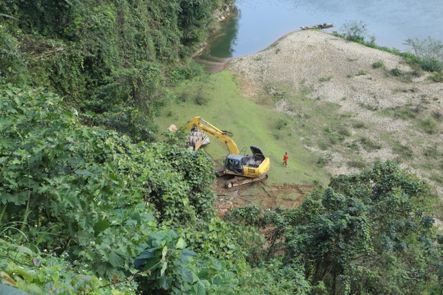
[[(185, 124), (185, 128), (192, 131), (202, 130), (227, 145), (229, 154), (225, 158), (224, 167), (218, 170), (217, 176), (228, 174), (235, 177), (227, 180), (225, 187), (231, 188), (238, 185), (245, 185), (258, 180), (264, 180), (268, 177), (271, 162), (269, 158), (264, 156), (259, 147), (252, 145), (251, 155), (240, 154), (236, 143), (229, 137), (226, 131), (216, 128), (216, 126), (201, 117), (195, 117), (188, 121), (188, 123)], [(198, 149), (199, 143), (201, 143), (201, 140), (196, 142), (194, 150), (196, 150), (196, 148)]]

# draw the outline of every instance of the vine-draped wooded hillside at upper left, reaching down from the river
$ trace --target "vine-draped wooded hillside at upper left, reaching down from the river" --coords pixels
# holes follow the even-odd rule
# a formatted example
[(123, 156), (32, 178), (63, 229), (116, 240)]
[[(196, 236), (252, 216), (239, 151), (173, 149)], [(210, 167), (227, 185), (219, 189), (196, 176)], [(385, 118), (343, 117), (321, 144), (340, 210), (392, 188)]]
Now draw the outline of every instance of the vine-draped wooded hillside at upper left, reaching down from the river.
[(91, 123), (152, 141), (170, 75), (196, 73), (190, 53), (227, 2), (1, 1), (0, 78), (45, 87), (96, 113)]

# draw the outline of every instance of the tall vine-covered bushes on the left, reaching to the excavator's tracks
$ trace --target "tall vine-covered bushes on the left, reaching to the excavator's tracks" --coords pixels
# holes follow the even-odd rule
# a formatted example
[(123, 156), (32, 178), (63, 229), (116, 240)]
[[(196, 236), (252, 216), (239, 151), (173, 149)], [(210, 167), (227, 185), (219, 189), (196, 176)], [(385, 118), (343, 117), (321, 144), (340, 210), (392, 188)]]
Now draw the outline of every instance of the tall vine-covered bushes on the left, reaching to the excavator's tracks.
[[(76, 110), (62, 109), (56, 95), (8, 84), (0, 86), (0, 122), (0, 231), (16, 243), (8, 247), (35, 249), (23, 262), (29, 271), (32, 259), (48, 249), (113, 283), (136, 280), (142, 289), (150, 284), (150, 290), (170, 292), (196, 285), (201, 268), (212, 268), (216, 257), (224, 257), (225, 266), (202, 274), (205, 282), (224, 277), (234, 259), (244, 261), (236, 241), (241, 234), (214, 217), (215, 172), (205, 153), (135, 144), (117, 132), (82, 126)], [(165, 260), (186, 243), (198, 257)], [(159, 244), (155, 266), (134, 263)], [(17, 281), (14, 269), (8, 267), (8, 276)], [(177, 269), (183, 274), (172, 284)], [(222, 288), (220, 280), (212, 289)]]

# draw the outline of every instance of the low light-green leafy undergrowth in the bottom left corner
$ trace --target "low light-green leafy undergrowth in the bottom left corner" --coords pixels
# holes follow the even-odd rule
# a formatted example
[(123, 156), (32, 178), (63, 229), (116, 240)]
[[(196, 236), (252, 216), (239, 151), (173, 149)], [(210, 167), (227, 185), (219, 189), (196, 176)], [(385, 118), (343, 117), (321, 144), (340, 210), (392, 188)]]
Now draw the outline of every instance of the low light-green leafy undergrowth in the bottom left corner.
[(66, 254), (34, 252), (0, 240), (0, 257), (0, 294), (135, 294), (134, 283), (115, 290), (111, 281), (95, 276), (87, 265), (67, 259)]

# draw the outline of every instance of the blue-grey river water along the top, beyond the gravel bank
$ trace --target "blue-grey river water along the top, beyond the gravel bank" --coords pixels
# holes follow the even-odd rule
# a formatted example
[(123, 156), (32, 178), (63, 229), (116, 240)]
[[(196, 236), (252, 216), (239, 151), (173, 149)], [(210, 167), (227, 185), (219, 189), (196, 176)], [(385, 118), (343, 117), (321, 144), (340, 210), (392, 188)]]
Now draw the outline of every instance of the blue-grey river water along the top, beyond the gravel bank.
[[(236, 0), (206, 57), (236, 58), (260, 51), (305, 25), (362, 21), (377, 45), (407, 51), (407, 38), (443, 40), (443, 0)], [(367, 39), (369, 40), (369, 39)]]

